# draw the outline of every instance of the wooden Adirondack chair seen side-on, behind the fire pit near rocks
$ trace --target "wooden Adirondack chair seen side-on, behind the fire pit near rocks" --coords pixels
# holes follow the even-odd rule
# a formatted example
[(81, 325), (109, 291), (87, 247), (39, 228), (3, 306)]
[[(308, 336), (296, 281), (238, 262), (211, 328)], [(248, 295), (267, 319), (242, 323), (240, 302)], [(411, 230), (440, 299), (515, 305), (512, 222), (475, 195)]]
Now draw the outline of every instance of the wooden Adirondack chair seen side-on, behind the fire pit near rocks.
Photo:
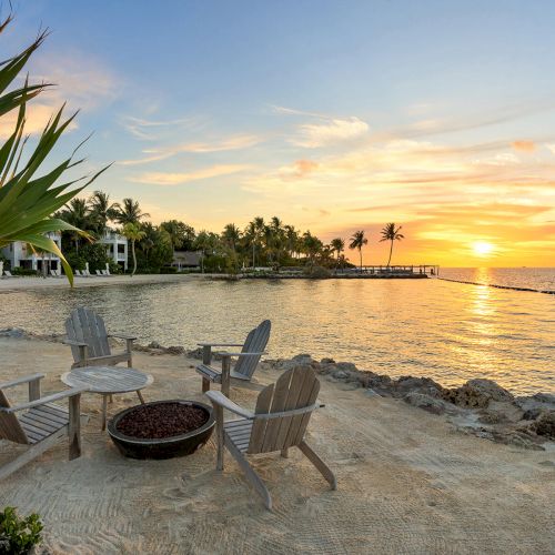
[[(198, 343), (202, 346), (202, 364), (196, 366), (196, 372), (202, 376), (202, 391), (209, 391), (211, 382), (221, 384), (222, 392), (226, 396), (230, 394), (231, 383), (239, 387), (249, 387), (260, 357), (264, 354), (264, 349), (268, 345), (271, 327), (272, 324), (270, 320), (264, 320), (254, 330), (249, 332), (243, 344)], [(230, 353), (226, 351), (216, 353), (222, 356), (222, 369), (218, 370), (211, 366), (212, 347), (214, 346), (240, 346), (242, 350), (240, 353)], [(233, 370), (231, 370), (232, 357), (239, 359)], [(254, 385), (254, 387), (256, 386)]]

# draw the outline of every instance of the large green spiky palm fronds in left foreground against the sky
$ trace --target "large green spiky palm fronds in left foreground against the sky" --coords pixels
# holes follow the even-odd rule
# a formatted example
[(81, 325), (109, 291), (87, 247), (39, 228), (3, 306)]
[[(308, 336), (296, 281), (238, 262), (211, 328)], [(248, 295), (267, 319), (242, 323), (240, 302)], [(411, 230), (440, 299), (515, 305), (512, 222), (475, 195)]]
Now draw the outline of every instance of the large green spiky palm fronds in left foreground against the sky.
[[(11, 16), (0, 21), (0, 33), (7, 29), (11, 21)], [(27, 145), (27, 137), (24, 137), (27, 104), (50, 85), (47, 83), (29, 84), (27, 79), (21, 85), (17, 79), (48, 34), (48, 30), (41, 32), (22, 52), (0, 61), (0, 117), (14, 110), (18, 111), (13, 132), (9, 134), (0, 149), (0, 249), (13, 241), (24, 241), (36, 249), (53, 253), (60, 258), (65, 275), (70, 284), (73, 285), (71, 268), (48, 233), (57, 231), (80, 232), (74, 225), (57, 218), (56, 212), (94, 181), (107, 168), (100, 170), (77, 189), (69, 190), (72, 184), (80, 180), (69, 180), (59, 184), (59, 180), (69, 168), (83, 162), (83, 160), (73, 161), (75, 149), (73, 154), (62, 163), (50, 168), (43, 175), (37, 175), (43, 162), (47, 161), (48, 164), (51, 150), (75, 118), (73, 114), (69, 119), (62, 120), (63, 107), (52, 115), (34, 142), (33, 150), (24, 152)], [(14, 81), (18, 84), (16, 88), (11, 88), (10, 85)], [(87, 235), (84, 232), (81, 233)]]

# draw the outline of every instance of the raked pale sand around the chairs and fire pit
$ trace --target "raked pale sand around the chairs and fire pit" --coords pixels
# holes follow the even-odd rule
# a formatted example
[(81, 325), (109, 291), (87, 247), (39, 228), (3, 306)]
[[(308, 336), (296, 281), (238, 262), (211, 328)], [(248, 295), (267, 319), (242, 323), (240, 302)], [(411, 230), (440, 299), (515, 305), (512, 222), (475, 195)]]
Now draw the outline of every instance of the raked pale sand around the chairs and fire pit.
[[(44, 372), (43, 394), (63, 389), (65, 346), (0, 339), (0, 381)], [(147, 400), (202, 400), (196, 361), (134, 357), (155, 380)], [(276, 375), (259, 371), (263, 383)], [(0, 505), (38, 512), (44, 546), (56, 554), (553, 553), (555, 452), (464, 435), (400, 400), (321, 381), (326, 406), (312, 418), (307, 441), (336, 474), (335, 492), (295, 450), (289, 460), (254, 458), (273, 512), (229, 454), (223, 474), (215, 471), (212, 441), (189, 457), (123, 458), (100, 431), (100, 397), (84, 394), (83, 455), (68, 462), (59, 444), (0, 484)], [(12, 398), (26, 394), (23, 387)], [(245, 406), (255, 395), (232, 391)], [(118, 395), (110, 412), (135, 400)], [(0, 464), (20, 448), (0, 442)]]

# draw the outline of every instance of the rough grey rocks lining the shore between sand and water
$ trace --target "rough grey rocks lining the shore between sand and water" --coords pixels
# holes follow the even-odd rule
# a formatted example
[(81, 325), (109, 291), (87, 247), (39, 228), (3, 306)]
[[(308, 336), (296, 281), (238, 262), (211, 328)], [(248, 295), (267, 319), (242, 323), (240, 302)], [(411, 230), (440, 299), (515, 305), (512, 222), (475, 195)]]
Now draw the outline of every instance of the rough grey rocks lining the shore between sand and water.
[[(34, 334), (12, 327), (0, 330), (0, 337), (62, 342), (61, 334)], [(184, 355), (202, 359), (202, 350), (163, 346), (158, 342), (135, 344), (135, 351), (151, 355)], [(214, 355), (214, 359), (219, 359)], [(369, 396), (393, 397), (435, 415), (443, 415), (456, 432), (476, 435), (497, 443), (528, 450), (555, 450), (555, 394), (536, 393), (515, 396), (496, 382), (470, 380), (460, 387), (444, 387), (430, 377), (401, 376), (393, 379), (359, 370), (350, 362), (333, 359), (316, 361), (310, 354), (292, 359), (266, 359), (263, 370), (285, 371), (310, 366), (326, 381), (363, 389)]]

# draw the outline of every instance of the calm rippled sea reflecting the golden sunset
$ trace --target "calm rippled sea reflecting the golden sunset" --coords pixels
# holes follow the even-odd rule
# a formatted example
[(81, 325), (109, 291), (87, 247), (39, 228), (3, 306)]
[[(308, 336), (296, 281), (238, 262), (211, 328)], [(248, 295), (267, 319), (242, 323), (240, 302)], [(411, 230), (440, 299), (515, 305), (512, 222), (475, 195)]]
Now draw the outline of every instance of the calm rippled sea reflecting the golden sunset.
[[(442, 276), (478, 281), (481, 275), (495, 283), (496, 272), (451, 269)], [(508, 279), (507, 272), (500, 275)], [(533, 271), (523, 272), (508, 284), (532, 286)], [(555, 270), (537, 273), (539, 289), (553, 286)], [(311, 353), (445, 385), (482, 376), (516, 393), (555, 392), (555, 295), (434, 279), (190, 280), (3, 293), (0, 327), (62, 333), (64, 319), (79, 305), (97, 310), (109, 329), (137, 334), (142, 343), (193, 347), (198, 341), (242, 341), (270, 317), (271, 357)]]

